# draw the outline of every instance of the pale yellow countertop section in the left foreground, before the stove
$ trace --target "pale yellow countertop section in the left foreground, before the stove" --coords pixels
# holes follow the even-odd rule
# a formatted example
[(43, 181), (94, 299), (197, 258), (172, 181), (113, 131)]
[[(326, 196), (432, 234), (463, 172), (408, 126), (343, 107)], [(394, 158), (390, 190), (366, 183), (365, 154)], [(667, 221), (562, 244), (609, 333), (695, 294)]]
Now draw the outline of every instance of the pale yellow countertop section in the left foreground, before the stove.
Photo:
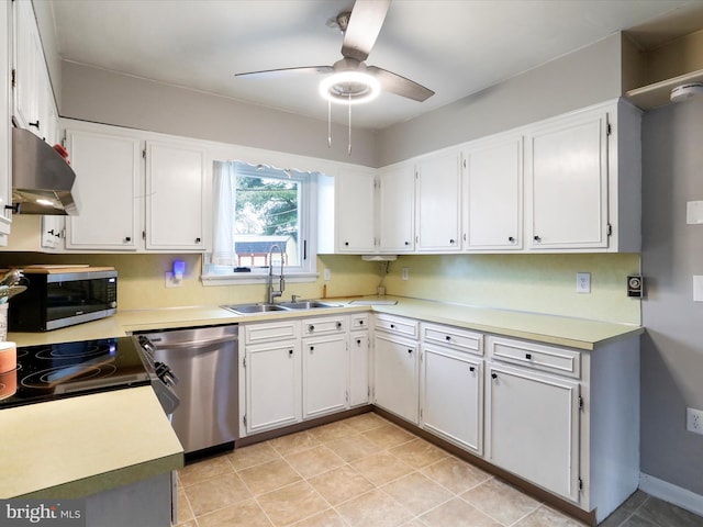
[(75, 498), (182, 467), (152, 386), (0, 411), (0, 498)]

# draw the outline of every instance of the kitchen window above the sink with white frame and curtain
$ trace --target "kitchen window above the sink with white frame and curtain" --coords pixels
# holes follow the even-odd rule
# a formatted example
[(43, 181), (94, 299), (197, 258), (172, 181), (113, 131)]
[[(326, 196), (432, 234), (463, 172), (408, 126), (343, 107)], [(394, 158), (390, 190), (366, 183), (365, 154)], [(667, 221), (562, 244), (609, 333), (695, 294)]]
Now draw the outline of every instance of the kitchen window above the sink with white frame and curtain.
[(316, 173), (243, 161), (215, 161), (213, 250), (203, 282), (259, 282), (269, 266), (287, 279), (315, 278), (311, 243)]

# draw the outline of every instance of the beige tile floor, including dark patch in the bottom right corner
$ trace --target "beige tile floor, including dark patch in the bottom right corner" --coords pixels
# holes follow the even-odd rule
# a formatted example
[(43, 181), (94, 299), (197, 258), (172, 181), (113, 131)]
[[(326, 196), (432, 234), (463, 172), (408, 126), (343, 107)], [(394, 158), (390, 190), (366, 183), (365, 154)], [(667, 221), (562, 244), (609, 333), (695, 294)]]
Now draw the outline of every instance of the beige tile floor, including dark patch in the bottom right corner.
[[(672, 519), (673, 518), (673, 519)], [(187, 466), (179, 527), (577, 527), (373, 413)], [(606, 527), (703, 526), (635, 493)]]

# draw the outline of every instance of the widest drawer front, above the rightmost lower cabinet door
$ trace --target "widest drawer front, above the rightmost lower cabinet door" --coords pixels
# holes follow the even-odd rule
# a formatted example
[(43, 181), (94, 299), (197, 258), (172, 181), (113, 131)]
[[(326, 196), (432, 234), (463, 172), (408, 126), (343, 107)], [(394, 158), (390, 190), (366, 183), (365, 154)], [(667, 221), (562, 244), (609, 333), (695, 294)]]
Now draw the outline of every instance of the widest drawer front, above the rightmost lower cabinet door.
[(493, 360), (576, 379), (581, 377), (581, 354), (577, 350), (493, 336), (488, 337), (487, 344)]

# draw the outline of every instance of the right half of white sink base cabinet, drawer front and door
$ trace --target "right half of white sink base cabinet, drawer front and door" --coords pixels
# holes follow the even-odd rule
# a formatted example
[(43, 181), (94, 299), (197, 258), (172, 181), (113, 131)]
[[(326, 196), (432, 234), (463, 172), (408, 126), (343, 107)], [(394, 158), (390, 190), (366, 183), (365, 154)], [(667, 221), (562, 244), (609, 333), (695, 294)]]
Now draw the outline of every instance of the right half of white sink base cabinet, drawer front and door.
[(346, 316), (303, 321), (303, 418), (348, 406)]

